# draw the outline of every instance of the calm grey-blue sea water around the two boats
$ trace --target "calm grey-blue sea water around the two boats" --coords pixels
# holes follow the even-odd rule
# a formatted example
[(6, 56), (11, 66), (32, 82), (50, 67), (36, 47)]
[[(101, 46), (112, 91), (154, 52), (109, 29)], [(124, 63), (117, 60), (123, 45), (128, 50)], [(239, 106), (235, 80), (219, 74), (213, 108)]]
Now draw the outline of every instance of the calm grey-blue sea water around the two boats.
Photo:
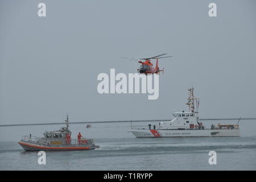
[[(205, 121), (207, 125), (221, 121)], [(237, 121), (230, 121), (236, 123)], [(148, 123), (133, 123), (147, 125)], [(152, 123), (156, 124), (157, 123)], [(1, 170), (256, 170), (256, 122), (241, 121), (241, 137), (143, 138), (127, 132), (130, 123), (71, 125), (94, 138), (100, 148), (90, 151), (46, 152), (46, 165), (38, 164), (37, 152), (19, 146), (22, 135), (42, 137), (58, 125), (0, 127)], [(208, 163), (209, 151), (217, 152), (217, 165)]]

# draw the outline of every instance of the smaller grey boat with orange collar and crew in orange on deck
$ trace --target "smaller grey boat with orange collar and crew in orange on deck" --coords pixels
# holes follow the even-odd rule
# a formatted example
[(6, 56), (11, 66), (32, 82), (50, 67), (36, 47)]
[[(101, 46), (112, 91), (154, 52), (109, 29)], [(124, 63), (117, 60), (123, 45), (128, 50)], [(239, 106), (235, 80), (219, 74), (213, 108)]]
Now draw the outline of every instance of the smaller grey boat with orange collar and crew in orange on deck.
[(68, 116), (65, 119), (67, 127), (58, 131), (46, 131), (44, 137), (23, 136), (18, 142), (26, 151), (72, 151), (72, 150), (93, 150), (99, 148), (94, 144), (93, 139), (71, 139), (71, 131), (68, 129)]

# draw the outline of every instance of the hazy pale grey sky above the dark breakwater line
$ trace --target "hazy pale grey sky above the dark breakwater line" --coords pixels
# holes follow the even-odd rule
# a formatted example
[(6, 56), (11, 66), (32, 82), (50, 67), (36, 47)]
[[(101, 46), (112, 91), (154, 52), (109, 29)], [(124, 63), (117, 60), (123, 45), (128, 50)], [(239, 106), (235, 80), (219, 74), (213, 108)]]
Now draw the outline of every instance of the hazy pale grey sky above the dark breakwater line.
[[(38, 3), (47, 16), (39, 18)], [(208, 16), (210, 2), (217, 17)], [(256, 117), (256, 1), (1, 1), (0, 123)], [(158, 100), (99, 94), (97, 76), (139, 64), (121, 57), (168, 53), (160, 60)]]

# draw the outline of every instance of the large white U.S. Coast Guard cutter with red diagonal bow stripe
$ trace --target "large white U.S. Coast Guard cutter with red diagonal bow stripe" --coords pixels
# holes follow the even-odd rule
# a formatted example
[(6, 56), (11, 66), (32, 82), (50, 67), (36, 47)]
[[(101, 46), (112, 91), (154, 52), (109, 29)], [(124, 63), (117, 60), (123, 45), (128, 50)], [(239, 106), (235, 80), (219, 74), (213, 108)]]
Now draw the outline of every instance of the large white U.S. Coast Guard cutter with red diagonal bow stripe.
[(188, 102), (186, 105), (189, 111), (174, 110), (174, 119), (171, 121), (160, 122), (159, 126), (151, 129), (132, 128), (130, 131), (137, 138), (146, 137), (237, 137), (239, 133), (239, 125), (212, 125), (210, 129), (205, 126), (199, 119), (199, 98), (194, 96), (194, 88), (188, 89)]

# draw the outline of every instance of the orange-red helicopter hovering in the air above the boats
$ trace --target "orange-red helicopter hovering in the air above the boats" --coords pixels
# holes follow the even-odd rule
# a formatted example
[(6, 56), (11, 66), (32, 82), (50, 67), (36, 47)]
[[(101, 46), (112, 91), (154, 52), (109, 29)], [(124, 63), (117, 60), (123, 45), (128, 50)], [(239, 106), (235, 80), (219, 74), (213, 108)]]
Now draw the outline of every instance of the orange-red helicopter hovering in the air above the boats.
[[(138, 73), (141, 74), (159, 74), (160, 72), (164, 73), (164, 68), (162, 70), (158, 67), (158, 59), (166, 58), (166, 57), (172, 57), (172, 56), (164, 56), (167, 53), (163, 53), (162, 55), (154, 56), (154, 57), (147, 57), (147, 58), (141, 58), (141, 59), (132, 59), (132, 60), (139, 60), (138, 63), (141, 63), (141, 66), (139, 69), (137, 69)], [(160, 57), (164, 56), (164, 57)], [(156, 65), (155, 68), (153, 67), (153, 64), (151, 63), (151, 59), (156, 59)], [(142, 61), (144, 60), (144, 61)]]

